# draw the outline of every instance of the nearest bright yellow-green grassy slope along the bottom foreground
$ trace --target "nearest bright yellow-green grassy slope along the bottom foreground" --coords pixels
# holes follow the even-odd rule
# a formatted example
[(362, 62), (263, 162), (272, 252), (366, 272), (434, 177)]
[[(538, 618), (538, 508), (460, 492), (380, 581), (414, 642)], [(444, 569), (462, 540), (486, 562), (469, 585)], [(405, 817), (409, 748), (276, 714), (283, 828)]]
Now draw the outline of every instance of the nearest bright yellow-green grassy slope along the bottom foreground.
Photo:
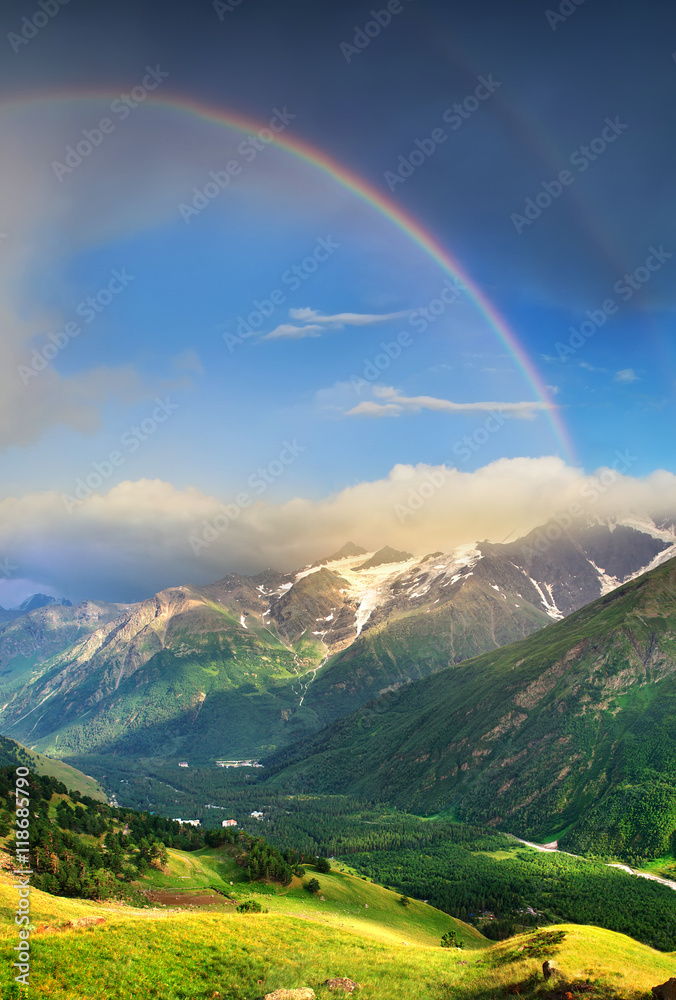
[[(6, 918), (0, 939), (8, 950), (15, 906), (10, 878), (0, 874), (0, 914)], [(311, 906), (295, 914), (239, 914), (232, 906), (209, 913), (135, 910), (36, 889), (31, 990), (53, 1000), (254, 1000), (280, 987), (309, 986), (322, 998), (336, 995), (324, 980), (347, 976), (360, 984), (355, 996), (364, 1000), (498, 1000), (510, 994), (530, 1000), (553, 995), (541, 971), (549, 958), (561, 973), (561, 996), (571, 985), (589, 1000), (639, 1000), (669, 978), (676, 959), (621, 934), (566, 924), (490, 948), (411, 946), (386, 925), (382, 936), (369, 934), (348, 926), (340, 911), (313, 912)], [(424, 935), (425, 927), (411, 912), (409, 934)], [(0, 989), (8, 1000), (19, 996), (11, 975), (9, 963), (2, 963)]]

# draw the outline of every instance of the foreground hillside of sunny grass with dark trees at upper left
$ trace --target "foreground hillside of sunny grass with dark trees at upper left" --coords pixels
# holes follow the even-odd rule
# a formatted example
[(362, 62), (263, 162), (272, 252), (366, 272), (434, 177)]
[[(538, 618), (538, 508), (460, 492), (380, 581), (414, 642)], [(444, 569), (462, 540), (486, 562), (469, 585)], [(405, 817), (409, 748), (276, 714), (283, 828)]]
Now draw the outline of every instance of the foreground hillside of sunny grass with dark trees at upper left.
[[(13, 772), (0, 771), (0, 777), (11, 811)], [(246, 833), (205, 834), (148, 813), (120, 811), (92, 799), (80, 802), (51, 779), (31, 778), (30, 794), (37, 869), (31, 876), (30, 983), (36, 995), (55, 1000), (255, 1000), (277, 988), (299, 986), (323, 998), (331, 995), (324, 980), (335, 976), (355, 980), (357, 995), (372, 1000), (498, 1000), (508, 994), (552, 1000), (570, 991), (590, 1000), (639, 1000), (651, 985), (668, 978), (676, 958), (622, 934), (564, 923), (493, 944), (476, 926), (435, 909), (412, 891), (402, 898), (399, 889), (357, 877), (335, 860), (328, 871), (307, 859), (299, 865), (289, 857), (285, 865), (274, 848)], [(413, 819), (404, 818), (405, 825)], [(11, 852), (11, 816), (0, 821), (9, 830), (0, 836)], [(422, 825), (430, 832), (436, 826)], [(376, 842), (391, 840), (386, 827), (374, 830)], [(513, 866), (497, 874), (514, 842), (476, 830), (457, 832), (473, 838), (464, 852), (476, 861), (476, 873), (484, 872), (484, 894), (491, 885), (494, 892), (514, 891)], [(178, 849), (176, 843), (184, 841), (187, 849)], [(215, 846), (200, 846), (205, 841)], [(443, 837), (439, 844), (444, 847)], [(516, 850), (519, 855), (521, 849)], [(432, 846), (389, 853), (393, 881), (413, 874), (417, 894), (428, 886), (432, 891), (454, 883), (469, 888), (476, 880), (459, 854), (442, 857)], [(578, 882), (591, 874), (606, 889), (616, 882), (625, 903), (630, 902), (625, 892), (630, 876), (602, 865), (592, 872), (584, 863), (572, 880), (555, 874), (552, 881), (550, 862), (569, 862), (527, 853), (545, 865), (536, 878), (545, 892), (561, 895), (557, 905), (571, 890), (584, 900), (576, 874)], [(367, 855), (367, 863), (371, 859), (381, 866), (375, 855)], [(354, 861), (362, 863), (357, 856)], [(94, 872), (94, 864), (104, 867)], [(279, 878), (261, 874), (261, 866), (278, 870)], [(0, 846), (0, 941), (8, 954), (16, 939), (17, 906), (10, 867)], [(646, 888), (651, 886), (653, 902), (662, 905), (668, 890)], [(53, 894), (57, 887), (59, 895)], [(586, 896), (591, 899), (595, 892)], [(609, 911), (619, 902), (616, 896), (605, 893)], [(644, 921), (658, 916), (647, 899)], [(672, 922), (669, 913), (658, 921), (666, 930)], [(484, 914), (481, 926), (488, 933), (496, 926), (494, 918)], [(543, 980), (545, 958), (559, 970), (555, 983)], [(7, 1000), (24, 995), (13, 974), (9, 962), (0, 965), (0, 995)]]

